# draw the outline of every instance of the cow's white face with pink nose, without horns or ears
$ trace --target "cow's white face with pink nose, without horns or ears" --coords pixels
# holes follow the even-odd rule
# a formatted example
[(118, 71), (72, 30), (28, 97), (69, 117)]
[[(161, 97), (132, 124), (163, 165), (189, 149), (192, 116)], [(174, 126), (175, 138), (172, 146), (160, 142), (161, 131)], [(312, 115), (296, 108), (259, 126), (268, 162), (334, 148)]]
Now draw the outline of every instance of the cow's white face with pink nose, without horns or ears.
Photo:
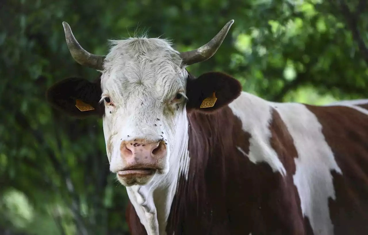
[[(102, 73), (110, 171), (125, 186), (167, 174), (185, 126), (187, 71), (163, 39), (112, 41)], [(178, 131), (179, 130), (179, 131)]]

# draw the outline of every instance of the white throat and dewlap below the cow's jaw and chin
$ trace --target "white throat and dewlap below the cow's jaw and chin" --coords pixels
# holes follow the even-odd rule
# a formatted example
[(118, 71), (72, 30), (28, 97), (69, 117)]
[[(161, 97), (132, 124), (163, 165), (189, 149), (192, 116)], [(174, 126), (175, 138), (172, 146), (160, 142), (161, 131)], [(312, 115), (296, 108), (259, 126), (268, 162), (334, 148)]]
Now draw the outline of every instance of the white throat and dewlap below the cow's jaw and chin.
[[(169, 157), (170, 169), (164, 176), (155, 176), (149, 184), (127, 187), (132, 205), (148, 235), (166, 235), (167, 219), (170, 214), (179, 178), (188, 177), (188, 119), (186, 111), (177, 123), (175, 144)], [(185, 128), (184, 128), (185, 127)]]

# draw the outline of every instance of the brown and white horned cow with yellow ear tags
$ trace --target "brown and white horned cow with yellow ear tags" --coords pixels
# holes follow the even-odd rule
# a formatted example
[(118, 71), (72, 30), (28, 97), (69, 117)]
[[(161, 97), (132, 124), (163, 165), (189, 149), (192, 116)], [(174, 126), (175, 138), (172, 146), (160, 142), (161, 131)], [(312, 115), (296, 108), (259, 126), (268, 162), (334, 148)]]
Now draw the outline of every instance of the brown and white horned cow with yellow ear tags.
[(277, 103), (225, 73), (190, 74), (233, 22), (192, 51), (142, 36), (111, 40), (106, 56), (63, 22), (72, 57), (100, 77), (61, 80), (47, 100), (103, 119), (131, 234), (368, 234), (368, 100)]

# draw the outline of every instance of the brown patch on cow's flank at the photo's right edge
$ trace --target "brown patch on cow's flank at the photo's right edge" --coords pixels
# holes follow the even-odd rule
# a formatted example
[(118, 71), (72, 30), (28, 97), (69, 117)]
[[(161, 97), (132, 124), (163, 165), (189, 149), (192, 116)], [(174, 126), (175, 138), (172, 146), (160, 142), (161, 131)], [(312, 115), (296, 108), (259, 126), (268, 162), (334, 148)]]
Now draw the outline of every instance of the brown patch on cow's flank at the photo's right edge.
[(342, 170), (331, 172), (336, 200), (329, 199), (329, 209), (335, 235), (368, 234), (368, 116), (344, 106), (307, 108), (321, 123)]

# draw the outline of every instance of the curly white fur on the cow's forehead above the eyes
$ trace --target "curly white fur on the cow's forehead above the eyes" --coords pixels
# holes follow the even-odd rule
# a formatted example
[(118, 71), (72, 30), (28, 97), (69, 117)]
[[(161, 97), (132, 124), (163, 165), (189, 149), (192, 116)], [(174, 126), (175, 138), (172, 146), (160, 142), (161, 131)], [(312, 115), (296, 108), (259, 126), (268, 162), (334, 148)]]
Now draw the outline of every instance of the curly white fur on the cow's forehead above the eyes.
[(185, 89), (187, 71), (169, 40), (136, 37), (110, 43), (101, 80), (102, 88), (110, 95), (130, 95), (139, 87), (162, 100), (171, 91)]

